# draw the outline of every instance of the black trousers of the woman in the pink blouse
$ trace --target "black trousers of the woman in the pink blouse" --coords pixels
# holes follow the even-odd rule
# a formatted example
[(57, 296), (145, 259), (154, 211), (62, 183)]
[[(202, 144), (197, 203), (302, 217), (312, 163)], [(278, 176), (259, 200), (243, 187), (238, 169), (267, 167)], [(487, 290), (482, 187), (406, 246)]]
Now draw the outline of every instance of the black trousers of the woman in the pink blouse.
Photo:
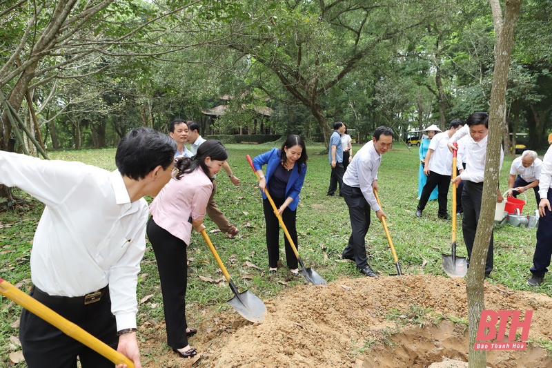
[(150, 217), (146, 228), (151, 242), (161, 292), (167, 328), (167, 345), (175, 349), (188, 346), (186, 336), (186, 285), (188, 283), (188, 258), (186, 243), (157, 225)]

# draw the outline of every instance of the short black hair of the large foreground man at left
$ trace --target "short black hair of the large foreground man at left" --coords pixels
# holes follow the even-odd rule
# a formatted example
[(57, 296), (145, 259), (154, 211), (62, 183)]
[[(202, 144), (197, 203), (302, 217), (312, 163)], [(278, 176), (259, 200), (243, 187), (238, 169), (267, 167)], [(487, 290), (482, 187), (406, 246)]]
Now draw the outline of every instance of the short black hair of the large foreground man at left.
[(119, 142), (115, 164), (121, 175), (140, 180), (159, 165), (166, 170), (176, 151), (177, 144), (168, 135), (152, 128), (135, 128)]

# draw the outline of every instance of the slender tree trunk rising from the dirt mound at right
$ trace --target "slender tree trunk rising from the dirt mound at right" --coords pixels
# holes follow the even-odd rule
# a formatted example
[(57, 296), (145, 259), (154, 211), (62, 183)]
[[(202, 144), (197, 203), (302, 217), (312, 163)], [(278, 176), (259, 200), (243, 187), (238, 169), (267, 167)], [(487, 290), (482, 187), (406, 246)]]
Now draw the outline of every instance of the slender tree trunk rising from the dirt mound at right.
[[(487, 142), (483, 197), (491, 199), (495, 198), (498, 188), (501, 126), (506, 113), (506, 85), (513, 48), (513, 35), (517, 17), (520, 14), (521, 1), (506, 1), (504, 18), (502, 17), (499, 1), (489, 0), (489, 2), (493, 10), (497, 40), (493, 87), (491, 89), (491, 110), (489, 111), (489, 140)], [(469, 320), (469, 368), (486, 367), (486, 351), (475, 350), (473, 347), (477, 337), (481, 312), (485, 308), (484, 269), (486, 255), (489, 251), (489, 241), (493, 233), (494, 213), (495, 201), (483, 200), (466, 282)]]

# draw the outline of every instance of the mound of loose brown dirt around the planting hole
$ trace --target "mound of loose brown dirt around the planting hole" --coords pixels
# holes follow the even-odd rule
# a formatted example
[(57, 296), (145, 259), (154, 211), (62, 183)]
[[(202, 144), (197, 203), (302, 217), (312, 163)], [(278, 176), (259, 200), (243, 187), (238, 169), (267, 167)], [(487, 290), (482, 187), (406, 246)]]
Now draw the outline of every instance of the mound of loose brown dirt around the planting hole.
[[(486, 309), (533, 310), (529, 339), (552, 339), (552, 298), (485, 283)], [(262, 297), (261, 297), (262, 298)], [(178, 358), (164, 325), (141, 326), (146, 367), (462, 367), (468, 356), (466, 284), (431, 275), (343, 279), (300, 285), (264, 300), (268, 314), (251, 323), (237, 313), (196, 320), (195, 360)], [(205, 312), (207, 313), (207, 312)], [(491, 351), (489, 367), (550, 367), (545, 351)]]

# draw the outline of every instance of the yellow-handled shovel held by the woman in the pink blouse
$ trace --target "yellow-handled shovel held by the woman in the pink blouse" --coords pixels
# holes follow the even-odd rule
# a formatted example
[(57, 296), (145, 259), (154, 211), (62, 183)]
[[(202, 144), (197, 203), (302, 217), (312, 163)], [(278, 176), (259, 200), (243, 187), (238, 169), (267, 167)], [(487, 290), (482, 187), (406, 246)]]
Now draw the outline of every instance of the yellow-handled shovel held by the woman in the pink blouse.
[(244, 317), (246, 320), (249, 320), (251, 322), (264, 321), (264, 315), (266, 313), (266, 305), (264, 305), (264, 302), (257, 298), (257, 296), (255, 296), (255, 294), (251, 293), (250, 291), (246, 290), (242, 291), (241, 293), (237, 291), (236, 285), (230, 278), (230, 274), (228, 273), (228, 271), (226, 271), (226, 267), (224, 267), (224, 264), (219, 257), (219, 253), (217, 253), (217, 250), (215, 249), (215, 246), (213, 246), (213, 243), (209, 239), (209, 236), (207, 235), (205, 229), (201, 230), (201, 235), (203, 235), (203, 238), (209, 246), (211, 253), (213, 253), (213, 255), (215, 256), (215, 260), (217, 260), (222, 273), (224, 273), (224, 277), (230, 285), (230, 289), (234, 293), (234, 298), (228, 300), (228, 304), (234, 307), (237, 313), (241, 314), (242, 317)]

